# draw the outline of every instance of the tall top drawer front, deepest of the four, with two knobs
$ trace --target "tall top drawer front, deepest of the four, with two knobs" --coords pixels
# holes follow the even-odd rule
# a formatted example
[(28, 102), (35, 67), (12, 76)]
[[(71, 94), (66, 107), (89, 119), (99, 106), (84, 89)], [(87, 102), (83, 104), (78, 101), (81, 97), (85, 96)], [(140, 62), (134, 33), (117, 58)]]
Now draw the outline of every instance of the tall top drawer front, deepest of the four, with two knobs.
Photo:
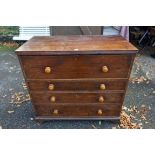
[(28, 79), (127, 78), (130, 55), (20, 56)]

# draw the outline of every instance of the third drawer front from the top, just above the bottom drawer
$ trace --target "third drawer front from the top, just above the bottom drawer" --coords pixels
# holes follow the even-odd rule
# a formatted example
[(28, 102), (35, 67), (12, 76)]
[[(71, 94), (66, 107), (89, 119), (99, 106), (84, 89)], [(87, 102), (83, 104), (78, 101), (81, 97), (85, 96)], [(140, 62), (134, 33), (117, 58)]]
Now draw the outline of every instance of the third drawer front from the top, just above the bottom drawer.
[(124, 93), (31, 93), (34, 104), (120, 103)]

